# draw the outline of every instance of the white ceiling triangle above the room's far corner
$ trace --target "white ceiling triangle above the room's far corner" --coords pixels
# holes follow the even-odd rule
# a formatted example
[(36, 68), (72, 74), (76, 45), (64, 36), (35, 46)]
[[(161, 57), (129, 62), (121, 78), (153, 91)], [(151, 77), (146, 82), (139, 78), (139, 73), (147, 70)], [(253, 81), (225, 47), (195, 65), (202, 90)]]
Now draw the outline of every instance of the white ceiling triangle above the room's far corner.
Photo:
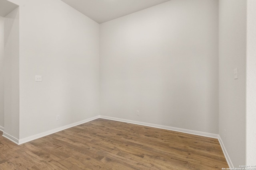
[(62, 0), (92, 20), (103, 23), (169, 0)]

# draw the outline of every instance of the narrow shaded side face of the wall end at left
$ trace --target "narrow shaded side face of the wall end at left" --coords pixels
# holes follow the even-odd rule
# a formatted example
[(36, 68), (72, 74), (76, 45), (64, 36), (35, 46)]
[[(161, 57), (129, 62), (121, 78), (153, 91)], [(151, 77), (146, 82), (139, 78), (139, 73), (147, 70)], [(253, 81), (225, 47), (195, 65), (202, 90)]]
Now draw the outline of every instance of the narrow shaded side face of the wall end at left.
[(4, 19), (4, 133), (19, 139), (19, 8)]

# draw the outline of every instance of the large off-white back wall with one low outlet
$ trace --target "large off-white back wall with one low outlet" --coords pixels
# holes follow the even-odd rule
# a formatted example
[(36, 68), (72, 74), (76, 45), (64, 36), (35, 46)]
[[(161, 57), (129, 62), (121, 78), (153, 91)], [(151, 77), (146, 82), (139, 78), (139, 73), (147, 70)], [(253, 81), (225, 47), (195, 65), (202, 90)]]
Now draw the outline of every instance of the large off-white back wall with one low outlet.
[(100, 113), (217, 134), (218, 1), (171, 0), (100, 24)]

